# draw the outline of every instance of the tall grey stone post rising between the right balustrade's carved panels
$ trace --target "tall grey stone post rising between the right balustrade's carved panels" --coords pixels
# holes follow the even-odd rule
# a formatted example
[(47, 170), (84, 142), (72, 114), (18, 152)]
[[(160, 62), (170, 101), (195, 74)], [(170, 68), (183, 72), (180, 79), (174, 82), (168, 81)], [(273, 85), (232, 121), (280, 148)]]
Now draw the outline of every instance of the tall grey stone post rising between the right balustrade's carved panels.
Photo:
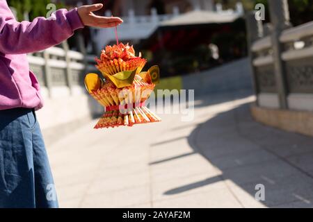
[(280, 35), (285, 28), (290, 27), (289, 8), (287, 0), (268, 1), (271, 24), (271, 32), (274, 72), (277, 85), (280, 108), (287, 109), (287, 80), (284, 72), (284, 66), (281, 59), (282, 45), (280, 44)]

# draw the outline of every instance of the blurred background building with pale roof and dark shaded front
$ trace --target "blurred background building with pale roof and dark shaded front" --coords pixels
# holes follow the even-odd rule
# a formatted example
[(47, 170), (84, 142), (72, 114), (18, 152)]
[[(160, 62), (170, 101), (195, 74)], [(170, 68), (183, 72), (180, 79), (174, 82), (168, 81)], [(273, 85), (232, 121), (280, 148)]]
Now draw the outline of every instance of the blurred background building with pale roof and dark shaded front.
[(213, 0), (67, 0), (63, 3), (70, 6), (104, 3), (97, 14), (120, 16), (124, 20), (117, 32), (115, 28), (85, 29), (88, 52), (99, 55), (118, 38), (119, 42), (134, 44), (149, 62), (160, 65), (163, 76), (209, 69), (246, 56), (246, 46), (242, 44), (246, 42), (245, 24), (236, 22), (244, 14), (240, 1), (235, 8), (227, 9)]

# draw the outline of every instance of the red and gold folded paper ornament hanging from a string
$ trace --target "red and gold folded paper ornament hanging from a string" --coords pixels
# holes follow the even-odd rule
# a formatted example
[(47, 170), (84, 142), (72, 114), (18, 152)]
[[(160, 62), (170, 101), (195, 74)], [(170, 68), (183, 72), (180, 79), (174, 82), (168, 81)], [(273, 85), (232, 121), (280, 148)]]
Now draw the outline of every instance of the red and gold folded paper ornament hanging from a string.
[(135, 56), (133, 46), (122, 43), (106, 46), (96, 62), (104, 80), (97, 74), (85, 78), (87, 91), (105, 108), (96, 129), (161, 121), (145, 106), (159, 82), (159, 67), (142, 71), (147, 61), (141, 53)]

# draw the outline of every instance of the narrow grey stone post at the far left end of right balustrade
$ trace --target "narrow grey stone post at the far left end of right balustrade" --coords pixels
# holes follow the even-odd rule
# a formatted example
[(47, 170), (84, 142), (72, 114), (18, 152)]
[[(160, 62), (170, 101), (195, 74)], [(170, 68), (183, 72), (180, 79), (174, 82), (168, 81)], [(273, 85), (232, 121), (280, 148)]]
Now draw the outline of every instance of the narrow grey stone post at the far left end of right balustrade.
[[(252, 85), (255, 90), (255, 95), (259, 94), (259, 84), (257, 83), (256, 70), (253, 65), (254, 55), (252, 53), (252, 44), (259, 37), (262, 37), (262, 21), (257, 21), (255, 19), (255, 12), (248, 12), (246, 15), (246, 26), (247, 26), (247, 37), (248, 37), (248, 56), (250, 58), (250, 66), (252, 69)], [(257, 101), (258, 105), (258, 101)]]

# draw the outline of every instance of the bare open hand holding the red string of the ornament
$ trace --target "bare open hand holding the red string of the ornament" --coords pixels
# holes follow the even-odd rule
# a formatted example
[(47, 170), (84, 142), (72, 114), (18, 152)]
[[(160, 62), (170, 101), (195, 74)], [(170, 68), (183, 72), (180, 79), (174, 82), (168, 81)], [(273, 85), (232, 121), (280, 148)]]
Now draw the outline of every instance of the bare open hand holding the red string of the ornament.
[(94, 4), (90, 6), (81, 6), (78, 8), (79, 17), (85, 26), (99, 28), (111, 28), (122, 24), (123, 20), (119, 17), (102, 17), (93, 12), (100, 10), (103, 4)]

